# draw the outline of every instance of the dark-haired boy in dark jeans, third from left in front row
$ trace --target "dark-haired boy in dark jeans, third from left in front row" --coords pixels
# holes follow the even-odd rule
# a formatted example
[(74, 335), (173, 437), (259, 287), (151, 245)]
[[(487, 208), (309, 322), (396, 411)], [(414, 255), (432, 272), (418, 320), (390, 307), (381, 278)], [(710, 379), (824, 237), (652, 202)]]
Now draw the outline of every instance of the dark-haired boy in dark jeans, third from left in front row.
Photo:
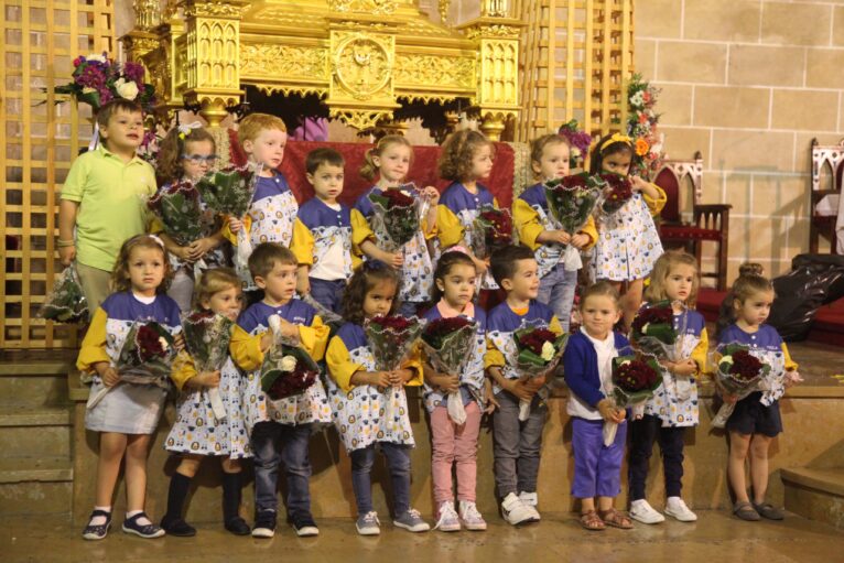
[[(249, 257), (249, 271), (264, 296), (240, 315), (231, 337), (231, 357), (248, 372), (241, 394), (255, 454), (255, 538), (275, 534), (279, 463), (284, 464), (286, 472), (288, 517), (296, 534), (320, 533), (311, 516), (307, 447), (313, 424), (332, 420), (323, 383), (317, 378), (305, 392), (278, 401), (261, 391), (260, 368), (264, 354), (280, 338), (299, 342), (316, 361), (325, 355), (328, 327), (311, 305), (293, 299), (297, 267), (296, 257), (281, 245), (263, 242), (256, 247)], [(277, 333), (270, 329), (272, 315), (281, 317)]]

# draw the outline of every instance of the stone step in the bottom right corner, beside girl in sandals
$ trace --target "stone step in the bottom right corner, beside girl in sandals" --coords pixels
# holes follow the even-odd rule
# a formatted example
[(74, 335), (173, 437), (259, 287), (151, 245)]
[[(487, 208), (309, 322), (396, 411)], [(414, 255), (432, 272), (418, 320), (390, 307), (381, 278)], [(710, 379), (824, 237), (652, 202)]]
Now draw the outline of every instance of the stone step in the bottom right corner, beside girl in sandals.
[(786, 509), (844, 529), (844, 468), (798, 467), (780, 470)]

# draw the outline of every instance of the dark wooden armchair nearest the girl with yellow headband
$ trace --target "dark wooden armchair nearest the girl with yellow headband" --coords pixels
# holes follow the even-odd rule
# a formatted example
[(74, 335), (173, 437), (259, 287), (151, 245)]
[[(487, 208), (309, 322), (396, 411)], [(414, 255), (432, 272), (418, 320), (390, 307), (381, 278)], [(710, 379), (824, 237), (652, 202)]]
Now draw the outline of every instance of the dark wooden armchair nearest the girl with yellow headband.
[[(653, 182), (666, 191), (668, 202), (660, 214), (659, 234), (666, 248), (686, 248), (697, 259), (701, 278), (713, 278), (718, 291), (727, 286), (727, 251), (729, 245), (728, 204), (701, 205), (703, 193), (703, 159), (700, 151), (694, 160), (666, 161)], [(683, 186), (692, 188), (692, 221), (684, 223), (680, 209), (680, 194)], [(714, 271), (704, 271), (702, 264), (703, 243), (715, 242), (716, 260)]]

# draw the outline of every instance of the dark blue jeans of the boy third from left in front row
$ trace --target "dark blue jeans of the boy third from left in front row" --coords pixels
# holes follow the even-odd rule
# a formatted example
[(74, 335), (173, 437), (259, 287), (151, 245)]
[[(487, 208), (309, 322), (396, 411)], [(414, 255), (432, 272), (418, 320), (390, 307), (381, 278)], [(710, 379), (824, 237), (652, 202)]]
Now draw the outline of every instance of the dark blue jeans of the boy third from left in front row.
[(307, 455), (311, 424), (290, 426), (278, 422), (259, 422), (252, 430), (255, 452), (255, 511), (278, 512), (275, 497), (279, 464), (288, 476), (288, 516), (295, 520), (311, 516), (311, 461)]

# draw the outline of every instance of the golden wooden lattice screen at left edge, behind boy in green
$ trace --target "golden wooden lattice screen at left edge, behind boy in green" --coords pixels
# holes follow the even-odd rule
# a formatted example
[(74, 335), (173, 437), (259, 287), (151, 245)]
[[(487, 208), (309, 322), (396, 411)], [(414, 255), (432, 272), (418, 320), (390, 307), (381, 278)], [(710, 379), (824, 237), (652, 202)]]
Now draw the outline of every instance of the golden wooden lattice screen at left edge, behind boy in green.
[(56, 194), (91, 133), (87, 106), (56, 106), (52, 87), (69, 80), (77, 55), (113, 53), (112, 22), (110, 0), (3, 0), (0, 348), (76, 345), (75, 326), (36, 317), (61, 271), (54, 258)]

